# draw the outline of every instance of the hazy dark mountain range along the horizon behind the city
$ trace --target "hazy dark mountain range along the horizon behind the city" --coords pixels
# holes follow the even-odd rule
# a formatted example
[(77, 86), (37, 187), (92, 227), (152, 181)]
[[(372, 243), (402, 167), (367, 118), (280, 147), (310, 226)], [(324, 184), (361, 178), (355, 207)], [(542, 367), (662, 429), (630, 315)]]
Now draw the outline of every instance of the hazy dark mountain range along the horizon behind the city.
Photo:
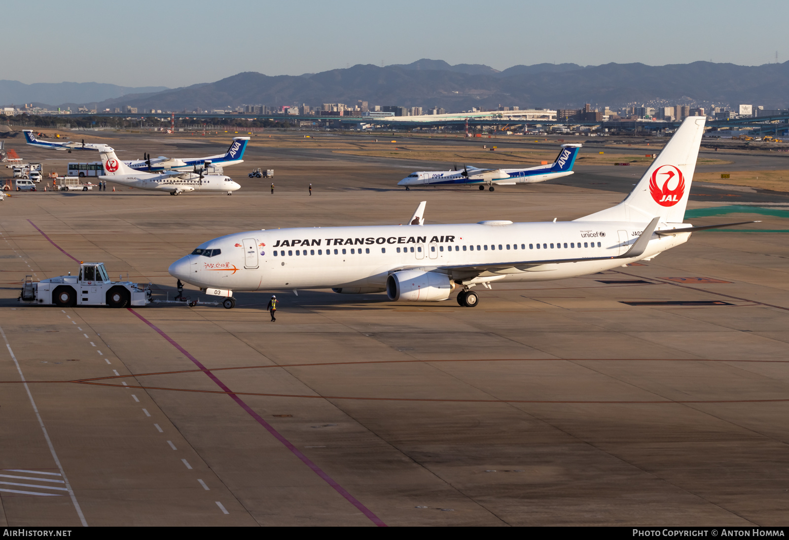
[[(8, 102), (4, 85), (8, 82), (13, 81), (0, 81), (0, 103)], [(435, 106), (447, 111), (462, 111), (471, 107), (492, 108), (499, 104), (522, 108), (574, 108), (583, 103), (617, 107), (625, 103), (665, 99), (674, 103), (686, 103), (689, 100), (751, 103), (773, 109), (789, 105), (787, 84), (789, 62), (763, 66), (712, 62), (668, 66), (645, 66), (640, 63), (602, 66), (537, 64), (512, 66), (498, 71), (481, 64), (451, 66), (443, 60), (423, 58), (405, 65), (379, 67), (360, 64), (348, 69), (305, 73), (301, 76), (271, 77), (263, 73), (245, 72), (221, 81), (193, 84), (185, 88), (156, 88), (151, 92), (146, 92), (146, 88), (128, 88), (132, 92), (124, 95), (116, 91), (114, 95), (99, 101), (98, 107), (100, 110), (129, 105), (140, 110), (155, 108), (163, 111), (196, 111), (199, 107), (210, 111), (245, 104), (356, 104), (357, 99), (363, 99), (371, 105)], [(64, 92), (67, 88), (64, 87)], [(93, 92), (93, 96), (98, 96), (97, 88)], [(30, 96), (13, 101), (89, 103), (97, 100), (95, 97), (74, 99), (76, 93), (69, 94), (69, 99), (64, 94), (58, 96), (61, 98), (50, 98), (48, 101), (32, 99)]]

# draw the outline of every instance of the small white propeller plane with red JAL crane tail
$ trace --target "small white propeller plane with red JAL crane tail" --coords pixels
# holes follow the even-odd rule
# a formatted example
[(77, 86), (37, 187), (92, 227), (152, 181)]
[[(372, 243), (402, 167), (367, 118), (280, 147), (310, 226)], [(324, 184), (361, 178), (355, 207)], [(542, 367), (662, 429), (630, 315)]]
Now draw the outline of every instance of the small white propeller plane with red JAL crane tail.
[(170, 195), (189, 193), (192, 191), (227, 193), (232, 195), (239, 186), (229, 176), (223, 174), (204, 174), (204, 169), (196, 172), (163, 171), (160, 173), (144, 173), (135, 171), (123, 163), (112, 148), (99, 144), (99, 156), (104, 168), (100, 180), (115, 182), (122, 186), (151, 191), (166, 191)]

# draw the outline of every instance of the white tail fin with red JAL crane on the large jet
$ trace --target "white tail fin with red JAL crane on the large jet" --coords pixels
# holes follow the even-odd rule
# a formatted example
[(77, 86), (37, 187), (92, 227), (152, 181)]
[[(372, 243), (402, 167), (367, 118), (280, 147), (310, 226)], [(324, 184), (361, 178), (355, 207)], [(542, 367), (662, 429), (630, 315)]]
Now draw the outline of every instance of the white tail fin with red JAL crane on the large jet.
[(682, 223), (705, 121), (686, 118), (624, 201), (576, 221), (649, 222), (660, 216), (664, 223)]

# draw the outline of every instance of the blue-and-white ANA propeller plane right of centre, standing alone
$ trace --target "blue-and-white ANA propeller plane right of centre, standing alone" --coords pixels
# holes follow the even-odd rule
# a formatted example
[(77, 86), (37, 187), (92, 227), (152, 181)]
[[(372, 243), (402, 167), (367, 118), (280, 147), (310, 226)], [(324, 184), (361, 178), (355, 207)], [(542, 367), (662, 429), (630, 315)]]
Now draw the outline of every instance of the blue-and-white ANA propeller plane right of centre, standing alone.
[(479, 185), (480, 189), (493, 191), (493, 186), (514, 186), (515, 184), (533, 184), (554, 178), (562, 178), (573, 174), (573, 164), (578, 156), (581, 144), (562, 144), (562, 150), (550, 165), (539, 165), (528, 169), (480, 169), (463, 167), (462, 171), (417, 171), (409, 174), (397, 183), (406, 186), (458, 186)]

